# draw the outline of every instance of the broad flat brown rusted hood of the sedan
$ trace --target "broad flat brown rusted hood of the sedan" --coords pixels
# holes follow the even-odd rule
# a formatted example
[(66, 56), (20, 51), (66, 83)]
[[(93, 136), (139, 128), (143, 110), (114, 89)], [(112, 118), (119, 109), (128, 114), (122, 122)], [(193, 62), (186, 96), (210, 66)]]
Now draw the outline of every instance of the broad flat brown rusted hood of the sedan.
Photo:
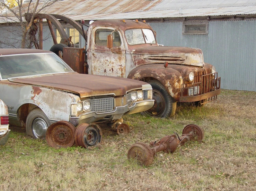
[(127, 91), (132, 89), (151, 88), (148, 83), (142, 81), (118, 77), (79, 74), (77, 72), (45, 74), (11, 78), (8, 80), (16, 83), (79, 94), (80, 98), (103, 94), (123, 96)]

